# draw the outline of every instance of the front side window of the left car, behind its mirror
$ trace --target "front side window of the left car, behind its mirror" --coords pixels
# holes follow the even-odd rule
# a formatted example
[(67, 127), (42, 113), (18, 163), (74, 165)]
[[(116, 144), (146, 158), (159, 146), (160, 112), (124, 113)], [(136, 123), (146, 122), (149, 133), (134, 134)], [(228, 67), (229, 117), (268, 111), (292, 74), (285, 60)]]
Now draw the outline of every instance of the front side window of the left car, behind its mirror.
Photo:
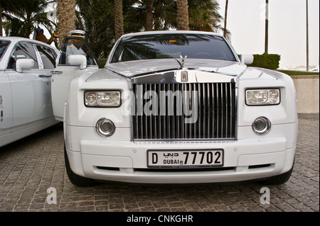
[(33, 69), (37, 69), (38, 61), (36, 57), (36, 52), (34, 51), (33, 45), (30, 43), (20, 43), (14, 53), (11, 55), (8, 63), (8, 69), (16, 69), (16, 61), (19, 59), (33, 59), (34, 65)]

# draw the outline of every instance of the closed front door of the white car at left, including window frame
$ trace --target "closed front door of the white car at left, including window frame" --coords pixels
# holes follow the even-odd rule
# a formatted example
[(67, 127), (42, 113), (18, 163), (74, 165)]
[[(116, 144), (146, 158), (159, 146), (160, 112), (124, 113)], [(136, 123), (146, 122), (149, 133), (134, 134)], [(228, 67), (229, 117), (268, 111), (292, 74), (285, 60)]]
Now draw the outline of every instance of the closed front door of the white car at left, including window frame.
[[(17, 72), (19, 59), (32, 59), (33, 67)], [(35, 46), (18, 43), (12, 53), (6, 73), (11, 83), (13, 129), (12, 132), (30, 128), (53, 118), (50, 100), (50, 78), (39, 69)], [(51, 109), (50, 109), (51, 108)]]

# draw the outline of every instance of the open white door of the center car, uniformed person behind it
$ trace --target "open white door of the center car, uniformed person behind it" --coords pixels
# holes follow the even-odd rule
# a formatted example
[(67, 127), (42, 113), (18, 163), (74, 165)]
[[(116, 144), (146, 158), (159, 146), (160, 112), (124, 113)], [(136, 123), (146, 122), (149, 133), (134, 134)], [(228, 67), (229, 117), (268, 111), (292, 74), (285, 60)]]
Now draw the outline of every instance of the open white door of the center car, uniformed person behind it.
[[(70, 55), (84, 55), (87, 60), (86, 67), (81, 68), (80, 65), (70, 64), (68, 61)], [(55, 115), (56, 120), (63, 121), (65, 101), (68, 97), (71, 79), (79, 74), (98, 69), (99, 64), (95, 54), (85, 40), (74, 36), (66, 37), (63, 40), (57, 61), (56, 72), (51, 77), (51, 97), (53, 101), (53, 115)]]

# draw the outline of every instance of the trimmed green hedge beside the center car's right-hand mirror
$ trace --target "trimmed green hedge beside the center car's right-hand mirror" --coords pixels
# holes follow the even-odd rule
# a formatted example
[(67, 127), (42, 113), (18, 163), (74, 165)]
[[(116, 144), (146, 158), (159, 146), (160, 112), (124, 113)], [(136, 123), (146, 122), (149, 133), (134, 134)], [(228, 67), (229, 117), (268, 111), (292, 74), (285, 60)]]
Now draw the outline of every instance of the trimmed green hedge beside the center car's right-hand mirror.
[(248, 65), (249, 67), (262, 67), (272, 70), (279, 68), (280, 55), (264, 53), (262, 55), (255, 54), (253, 57), (253, 63)]

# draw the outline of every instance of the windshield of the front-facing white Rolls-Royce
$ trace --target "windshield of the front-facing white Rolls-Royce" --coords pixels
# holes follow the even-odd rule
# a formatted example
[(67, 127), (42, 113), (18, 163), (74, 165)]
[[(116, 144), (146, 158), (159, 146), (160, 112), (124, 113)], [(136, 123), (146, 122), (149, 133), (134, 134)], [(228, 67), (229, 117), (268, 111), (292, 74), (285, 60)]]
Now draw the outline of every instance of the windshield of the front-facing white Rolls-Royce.
[(228, 43), (218, 35), (156, 34), (122, 38), (111, 63), (163, 58), (237, 61)]

